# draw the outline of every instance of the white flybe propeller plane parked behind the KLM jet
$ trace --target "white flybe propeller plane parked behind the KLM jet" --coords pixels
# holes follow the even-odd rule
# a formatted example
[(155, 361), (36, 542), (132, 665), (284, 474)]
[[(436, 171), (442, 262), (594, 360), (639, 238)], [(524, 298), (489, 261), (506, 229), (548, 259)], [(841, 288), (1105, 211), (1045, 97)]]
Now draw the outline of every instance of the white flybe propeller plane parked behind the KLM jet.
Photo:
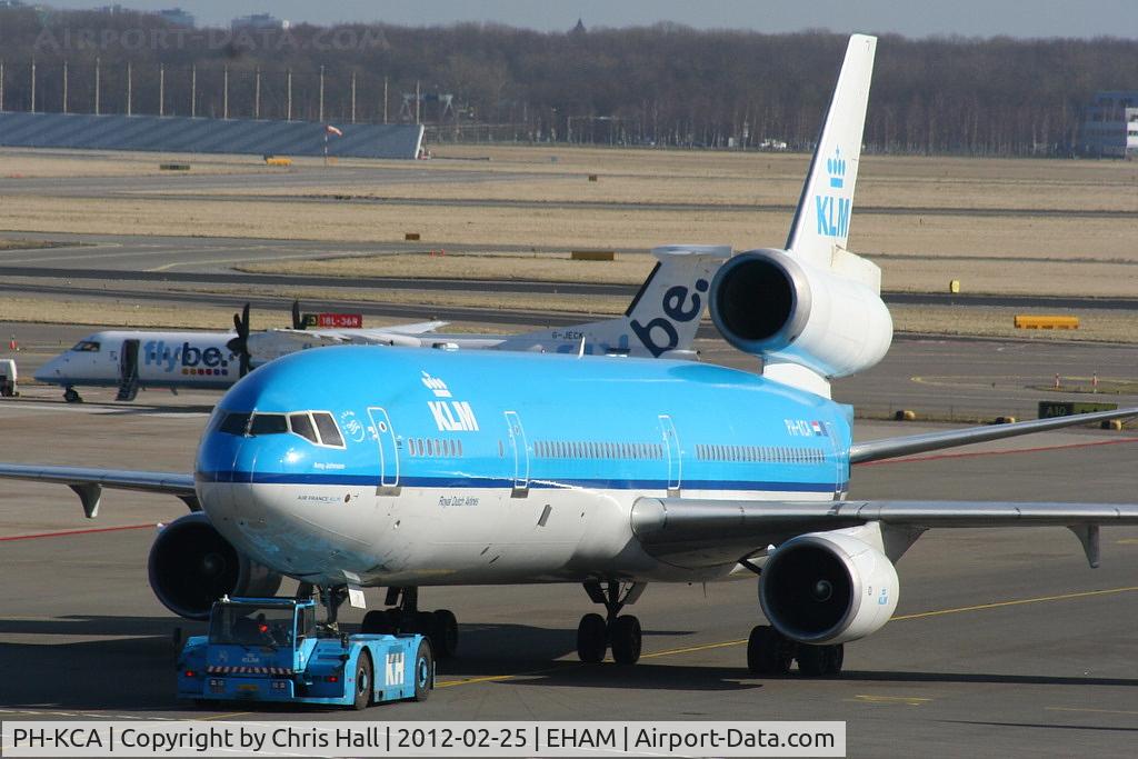
[(139, 389), (224, 389), (274, 358), (330, 345), (385, 345), (446, 349), (536, 350), (673, 358), (694, 357), (692, 343), (716, 270), (729, 246), (667, 246), (622, 316), (522, 335), (440, 333), (431, 321), (379, 329), (304, 329), (294, 304), (292, 329), (249, 330), (248, 305), (231, 332), (105, 330), (76, 343), (35, 372), (59, 385), (69, 403), (76, 387), (117, 387), (119, 401)]

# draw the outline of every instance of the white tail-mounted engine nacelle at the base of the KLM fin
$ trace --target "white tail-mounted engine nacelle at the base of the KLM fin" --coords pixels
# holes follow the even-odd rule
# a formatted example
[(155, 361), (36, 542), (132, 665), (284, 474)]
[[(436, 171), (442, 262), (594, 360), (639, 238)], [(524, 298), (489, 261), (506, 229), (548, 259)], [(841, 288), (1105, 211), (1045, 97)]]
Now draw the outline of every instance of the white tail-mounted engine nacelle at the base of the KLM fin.
[(716, 328), (740, 350), (825, 378), (873, 366), (893, 339), (889, 308), (873, 288), (784, 250), (749, 250), (724, 264), (709, 308)]

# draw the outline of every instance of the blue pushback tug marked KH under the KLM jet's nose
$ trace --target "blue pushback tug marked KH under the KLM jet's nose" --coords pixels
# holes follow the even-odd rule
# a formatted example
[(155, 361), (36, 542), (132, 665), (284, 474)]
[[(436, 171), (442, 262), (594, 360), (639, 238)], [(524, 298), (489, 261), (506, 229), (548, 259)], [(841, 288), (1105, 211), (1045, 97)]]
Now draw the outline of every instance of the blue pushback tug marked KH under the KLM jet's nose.
[(230, 599), (213, 605), (209, 634), (178, 659), (178, 696), (209, 701), (320, 703), (365, 709), (422, 701), (435, 686), (422, 635), (336, 635), (316, 625), (316, 604)]

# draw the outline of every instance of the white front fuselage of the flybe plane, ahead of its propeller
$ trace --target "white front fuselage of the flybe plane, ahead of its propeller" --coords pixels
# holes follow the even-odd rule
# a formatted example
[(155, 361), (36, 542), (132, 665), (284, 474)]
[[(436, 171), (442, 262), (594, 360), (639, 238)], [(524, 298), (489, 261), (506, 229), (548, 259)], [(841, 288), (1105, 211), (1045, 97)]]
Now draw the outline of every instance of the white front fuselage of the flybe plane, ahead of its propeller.
[(226, 388), (238, 376), (238, 360), (225, 345), (234, 337), (234, 332), (94, 332), (43, 364), (35, 379), (65, 387), (114, 387), (122, 381), (123, 362), (133, 349), (143, 387)]

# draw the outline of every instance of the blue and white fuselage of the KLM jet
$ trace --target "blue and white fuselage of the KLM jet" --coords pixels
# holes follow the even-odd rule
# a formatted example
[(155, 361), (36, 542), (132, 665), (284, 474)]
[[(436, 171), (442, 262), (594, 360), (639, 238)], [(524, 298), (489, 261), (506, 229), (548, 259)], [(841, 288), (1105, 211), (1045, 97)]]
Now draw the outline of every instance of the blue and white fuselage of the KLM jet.
[(643, 552), (636, 500), (832, 501), (848, 411), (690, 362), (336, 347), (234, 386), (196, 487), (239, 551), (319, 585), (711, 579), (735, 561)]

